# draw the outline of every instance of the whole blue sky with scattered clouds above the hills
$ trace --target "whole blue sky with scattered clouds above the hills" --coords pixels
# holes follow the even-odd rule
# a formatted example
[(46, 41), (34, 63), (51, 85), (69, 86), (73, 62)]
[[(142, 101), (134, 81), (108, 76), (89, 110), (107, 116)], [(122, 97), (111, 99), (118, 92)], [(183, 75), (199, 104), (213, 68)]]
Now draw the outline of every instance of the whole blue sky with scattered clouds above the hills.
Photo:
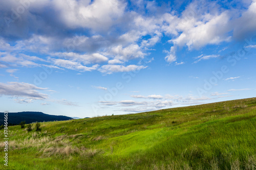
[(255, 52), (255, 0), (1, 1), (1, 109), (93, 117), (252, 98)]

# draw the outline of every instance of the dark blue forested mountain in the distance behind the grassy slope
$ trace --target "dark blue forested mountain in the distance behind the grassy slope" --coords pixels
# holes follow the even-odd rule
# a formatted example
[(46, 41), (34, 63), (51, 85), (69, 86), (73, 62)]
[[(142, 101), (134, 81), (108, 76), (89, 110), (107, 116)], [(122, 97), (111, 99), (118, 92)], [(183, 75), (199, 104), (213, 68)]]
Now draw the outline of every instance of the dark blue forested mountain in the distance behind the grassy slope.
[[(25, 121), (26, 124), (30, 124), (33, 122), (49, 122), (54, 120), (70, 120), (73, 119), (68, 116), (57, 116), (45, 114), (42, 112), (16, 112), (16, 113), (8, 113), (8, 124), (9, 125), (17, 125), (20, 122)], [(4, 125), (4, 113), (0, 112), (0, 125)]]

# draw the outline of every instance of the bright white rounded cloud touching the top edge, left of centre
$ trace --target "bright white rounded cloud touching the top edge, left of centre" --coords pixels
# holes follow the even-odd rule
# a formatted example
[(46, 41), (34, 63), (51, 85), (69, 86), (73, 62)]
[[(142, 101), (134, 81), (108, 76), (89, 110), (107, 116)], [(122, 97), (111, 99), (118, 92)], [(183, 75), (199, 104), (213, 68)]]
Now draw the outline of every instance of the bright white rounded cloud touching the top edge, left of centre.
[[(126, 4), (117, 0), (71, 1), (55, 0), (53, 7), (60, 19), (70, 28), (109, 29), (123, 13)], [(102, 27), (104, 26), (104, 27)]]

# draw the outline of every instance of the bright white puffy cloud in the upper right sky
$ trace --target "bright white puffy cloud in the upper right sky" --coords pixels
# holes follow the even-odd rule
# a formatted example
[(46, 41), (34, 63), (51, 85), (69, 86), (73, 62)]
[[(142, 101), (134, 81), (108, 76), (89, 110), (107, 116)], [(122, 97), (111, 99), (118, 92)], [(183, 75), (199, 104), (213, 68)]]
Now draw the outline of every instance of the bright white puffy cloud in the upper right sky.
[[(222, 12), (220, 15), (206, 13), (202, 18), (191, 19), (193, 25), (180, 28), (183, 32), (172, 42), (178, 46), (186, 45), (189, 50), (199, 49), (207, 44), (218, 44), (222, 41), (229, 41), (226, 35), (231, 31), (229, 14)], [(201, 20), (201, 21), (200, 21)]]

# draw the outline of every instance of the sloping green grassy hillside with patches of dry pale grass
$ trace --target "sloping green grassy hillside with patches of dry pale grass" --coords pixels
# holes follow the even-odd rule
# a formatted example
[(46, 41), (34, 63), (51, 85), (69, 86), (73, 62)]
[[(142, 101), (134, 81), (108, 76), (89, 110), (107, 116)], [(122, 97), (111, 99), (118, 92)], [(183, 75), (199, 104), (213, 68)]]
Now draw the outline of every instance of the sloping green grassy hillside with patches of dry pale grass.
[(256, 98), (41, 129), (9, 127), (9, 169), (256, 169)]

